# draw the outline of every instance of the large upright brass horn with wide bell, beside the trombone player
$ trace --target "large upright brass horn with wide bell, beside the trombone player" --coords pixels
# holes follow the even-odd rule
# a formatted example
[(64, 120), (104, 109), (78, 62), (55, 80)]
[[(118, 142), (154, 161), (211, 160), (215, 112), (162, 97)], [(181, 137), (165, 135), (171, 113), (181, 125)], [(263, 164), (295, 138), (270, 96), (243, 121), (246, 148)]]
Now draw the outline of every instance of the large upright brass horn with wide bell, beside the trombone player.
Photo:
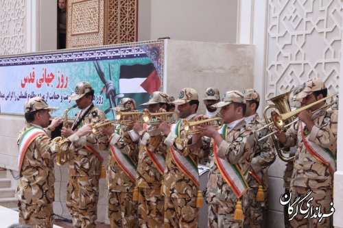
[[(279, 96), (273, 97), (270, 99), (274, 103), (274, 105), (268, 105), (263, 110), (263, 117), (265, 119), (265, 123), (268, 125), (268, 128), (270, 131), (272, 130), (273, 122), (270, 122), (270, 118), (267, 116), (267, 111), (274, 108), (275, 110), (278, 110), (279, 113), (285, 114), (291, 112), (291, 106), (289, 105), (289, 95), (292, 91), (285, 92), (284, 94), (280, 94)], [(274, 112), (273, 112), (274, 113)], [(287, 120), (285, 120), (285, 123), (290, 123), (294, 120), (294, 117), (289, 117)], [(289, 152), (285, 151), (283, 148), (281, 148), (279, 141), (277, 140), (276, 136), (272, 135), (272, 142), (274, 144), (275, 150), (278, 153), (279, 157), (283, 162), (292, 162), (294, 160), (294, 156), (290, 156)], [(286, 156), (286, 154), (288, 156)]]

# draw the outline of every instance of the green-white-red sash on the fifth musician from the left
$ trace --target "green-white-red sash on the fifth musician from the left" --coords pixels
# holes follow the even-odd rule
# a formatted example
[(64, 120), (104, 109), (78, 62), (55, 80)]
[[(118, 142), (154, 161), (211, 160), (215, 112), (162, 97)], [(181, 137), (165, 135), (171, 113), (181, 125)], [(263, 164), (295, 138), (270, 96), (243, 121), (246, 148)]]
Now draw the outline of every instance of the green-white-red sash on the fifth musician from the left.
[[(180, 123), (182, 121), (178, 121), (176, 124), (171, 125), (171, 131), (175, 131), (176, 136), (180, 135)], [(198, 166), (196, 162), (193, 160), (193, 157), (190, 155), (182, 156), (178, 151), (174, 151), (171, 147), (169, 148), (171, 157), (173, 158), (174, 162), (178, 166), (178, 168), (182, 171), (182, 173), (185, 173), (191, 181), (197, 186), (197, 188), (200, 188), (199, 183), (199, 171)]]

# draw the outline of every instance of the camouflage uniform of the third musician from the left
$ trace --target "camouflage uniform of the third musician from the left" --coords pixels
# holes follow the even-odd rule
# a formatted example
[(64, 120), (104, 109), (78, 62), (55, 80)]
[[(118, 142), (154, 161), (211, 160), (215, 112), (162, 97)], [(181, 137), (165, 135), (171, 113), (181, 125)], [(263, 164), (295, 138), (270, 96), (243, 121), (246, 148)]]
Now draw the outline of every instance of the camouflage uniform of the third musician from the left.
[[(127, 132), (121, 136), (117, 133), (113, 134), (110, 144), (117, 147), (121, 153), (128, 155), (134, 166), (137, 166), (138, 143), (132, 142)], [(133, 201), (136, 183), (115, 162), (111, 153), (108, 155), (107, 186), (110, 227), (139, 227), (137, 219), (138, 202)]]

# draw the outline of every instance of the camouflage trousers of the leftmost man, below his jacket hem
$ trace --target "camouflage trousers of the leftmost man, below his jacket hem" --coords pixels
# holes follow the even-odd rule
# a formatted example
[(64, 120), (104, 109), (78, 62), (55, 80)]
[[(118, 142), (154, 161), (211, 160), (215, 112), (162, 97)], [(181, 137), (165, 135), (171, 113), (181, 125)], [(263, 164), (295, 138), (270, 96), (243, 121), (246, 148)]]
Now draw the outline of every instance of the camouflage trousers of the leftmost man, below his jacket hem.
[(38, 205), (20, 202), (19, 223), (33, 228), (52, 228), (54, 224), (52, 203)]

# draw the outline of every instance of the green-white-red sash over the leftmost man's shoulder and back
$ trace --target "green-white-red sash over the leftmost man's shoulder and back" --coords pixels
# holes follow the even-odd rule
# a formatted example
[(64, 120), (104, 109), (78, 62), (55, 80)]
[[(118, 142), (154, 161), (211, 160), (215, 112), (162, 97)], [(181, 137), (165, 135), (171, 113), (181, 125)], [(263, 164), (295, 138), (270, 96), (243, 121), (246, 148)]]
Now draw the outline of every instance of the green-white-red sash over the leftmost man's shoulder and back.
[(38, 127), (30, 127), (29, 129), (27, 129), (23, 136), (21, 137), (21, 140), (19, 141), (19, 155), (18, 155), (18, 168), (19, 171), (21, 170), (21, 164), (23, 164), (23, 159), (25, 156), (25, 153), (27, 151), (27, 147), (29, 147), (29, 144), (31, 144), (31, 142), (37, 138), (37, 136), (40, 135), (46, 135), (45, 131), (43, 131), (43, 129), (40, 129)]

